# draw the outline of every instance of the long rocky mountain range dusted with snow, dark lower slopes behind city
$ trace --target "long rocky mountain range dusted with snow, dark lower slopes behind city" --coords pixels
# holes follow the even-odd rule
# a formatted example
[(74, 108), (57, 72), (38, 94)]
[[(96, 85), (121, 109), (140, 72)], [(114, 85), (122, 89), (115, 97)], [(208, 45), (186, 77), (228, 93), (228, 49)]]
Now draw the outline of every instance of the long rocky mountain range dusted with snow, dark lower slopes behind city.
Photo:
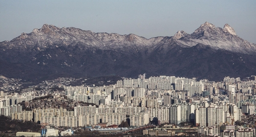
[(192, 34), (144, 38), (44, 25), (0, 43), (0, 75), (28, 81), (58, 77), (178, 76), (220, 81), (256, 74), (256, 44), (228, 24), (205, 22)]

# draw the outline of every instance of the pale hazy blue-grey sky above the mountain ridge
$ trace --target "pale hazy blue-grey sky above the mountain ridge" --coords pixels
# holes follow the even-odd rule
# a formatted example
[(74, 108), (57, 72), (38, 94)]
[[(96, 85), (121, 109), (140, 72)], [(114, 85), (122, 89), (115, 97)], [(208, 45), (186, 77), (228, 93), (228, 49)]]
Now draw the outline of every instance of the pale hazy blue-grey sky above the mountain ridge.
[(0, 41), (42, 25), (93, 32), (136, 34), (145, 38), (193, 33), (205, 21), (229, 24), (241, 38), (256, 43), (256, 1), (3, 1)]

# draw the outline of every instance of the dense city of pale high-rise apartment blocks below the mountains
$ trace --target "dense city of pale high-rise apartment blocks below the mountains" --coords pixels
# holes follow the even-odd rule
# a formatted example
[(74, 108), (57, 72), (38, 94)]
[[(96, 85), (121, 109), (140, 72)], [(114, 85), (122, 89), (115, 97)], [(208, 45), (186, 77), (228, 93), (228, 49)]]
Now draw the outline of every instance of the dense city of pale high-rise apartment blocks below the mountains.
[[(1, 77), (0, 115), (40, 125), (36, 132), (1, 132), (17, 136), (255, 136), (255, 76), (215, 82), (143, 74), (109, 85), (111, 80), (88, 85), (89, 80), (58, 78), (24, 87), (21, 79)], [(71, 86), (76, 81), (82, 84)]]

